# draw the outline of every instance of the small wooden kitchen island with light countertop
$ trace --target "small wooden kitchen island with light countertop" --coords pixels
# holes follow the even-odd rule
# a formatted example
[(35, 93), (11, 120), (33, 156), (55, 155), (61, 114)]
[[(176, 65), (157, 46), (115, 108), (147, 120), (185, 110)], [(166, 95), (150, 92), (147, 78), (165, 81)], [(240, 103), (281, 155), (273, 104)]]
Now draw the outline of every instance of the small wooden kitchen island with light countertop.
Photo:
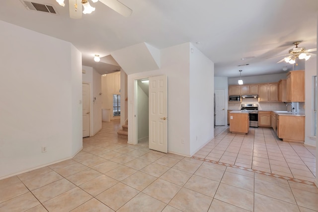
[(230, 112), (230, 132), (248, 133), (249, 113), (244, 110), (233, 110)]

